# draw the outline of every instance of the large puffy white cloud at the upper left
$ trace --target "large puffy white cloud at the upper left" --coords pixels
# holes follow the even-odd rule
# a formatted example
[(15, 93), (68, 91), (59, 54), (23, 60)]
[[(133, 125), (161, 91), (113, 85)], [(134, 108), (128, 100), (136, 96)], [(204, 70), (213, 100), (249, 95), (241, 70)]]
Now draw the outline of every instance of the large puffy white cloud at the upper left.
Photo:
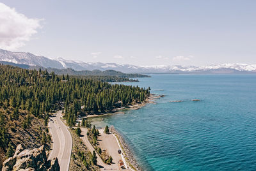
[(41, 27), (40, 20), (29, 19), (15, 8), (0, 3), (0, 48), (15, 50), (24, 46)]

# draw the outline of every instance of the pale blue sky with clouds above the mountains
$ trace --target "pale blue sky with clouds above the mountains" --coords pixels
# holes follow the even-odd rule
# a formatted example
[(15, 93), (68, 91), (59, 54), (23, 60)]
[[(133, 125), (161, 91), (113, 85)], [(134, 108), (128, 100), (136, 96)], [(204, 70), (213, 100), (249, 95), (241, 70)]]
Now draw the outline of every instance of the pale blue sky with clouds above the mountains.
[(0, 0), (0, 48), (118, 64), (256, 63), (256, 1)]

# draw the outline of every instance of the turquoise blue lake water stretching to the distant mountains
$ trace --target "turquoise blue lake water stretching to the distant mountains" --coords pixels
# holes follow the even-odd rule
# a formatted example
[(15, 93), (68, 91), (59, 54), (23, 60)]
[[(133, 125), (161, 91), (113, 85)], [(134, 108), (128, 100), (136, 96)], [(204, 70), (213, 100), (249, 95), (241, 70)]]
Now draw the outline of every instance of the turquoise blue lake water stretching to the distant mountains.
[(103, 118), (145, 170), (256, 170), (256, 75), (151, 76), (124, 84), (164, 98)]

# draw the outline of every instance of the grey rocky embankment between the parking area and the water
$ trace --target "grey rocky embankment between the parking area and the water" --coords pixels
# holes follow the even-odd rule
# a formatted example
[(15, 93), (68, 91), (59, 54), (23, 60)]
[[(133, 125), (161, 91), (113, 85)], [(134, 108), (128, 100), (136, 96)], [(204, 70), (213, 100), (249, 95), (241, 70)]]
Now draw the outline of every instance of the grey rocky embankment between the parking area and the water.
[(142, 171), (143, 169), (140, 167), (140, 165), (138, 164), (138, 162), (134, 159), (134, 156), (132, 154), (131, 149), (129, 148), (129, 145), (125, 142), (124, 137), (122, 137), (122, 135), (120, 135), (120, 133), (118, 133), (118, 131), (116, 131), (116, 129), (114, 128), (114, 126), (111, 126), (109, 128), (109, 131), (113, 134), (116, 135), (116, 137), (118, 138), (118, 141), (121, 145), (125, 160), (127, 161), (128, 165), (130, 168), (136, 170), (136, 171)]

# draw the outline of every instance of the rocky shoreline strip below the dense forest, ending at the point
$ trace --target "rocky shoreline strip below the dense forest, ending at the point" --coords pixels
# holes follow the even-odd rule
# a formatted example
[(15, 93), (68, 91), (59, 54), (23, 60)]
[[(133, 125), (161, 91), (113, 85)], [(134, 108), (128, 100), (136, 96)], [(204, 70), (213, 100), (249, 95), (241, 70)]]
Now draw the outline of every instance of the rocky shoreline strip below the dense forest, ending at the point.
[(124, 114), (125, 112), (122, 112), (122, 110), (138, 110), (141, 107), (144, 107), (147, 105), (147, 103), (154, 103), (156, 104), (156, 100), (159, 98), (163, 98), (164, 95), (158, 95), (158, 94), (150, 94), (145, 101), (140, 103), (134, 103), (132, 105), (129, 105), (128, 107), (120, 107), (120, 108), (114, 108), (112, 112), (108, 112), (106, 114), (93, 114), (93, 115), (86, 115), (84, 118), (90, 118), (90, 117), (102, 117), (107, 115), (113, 115), (113, 114)]

